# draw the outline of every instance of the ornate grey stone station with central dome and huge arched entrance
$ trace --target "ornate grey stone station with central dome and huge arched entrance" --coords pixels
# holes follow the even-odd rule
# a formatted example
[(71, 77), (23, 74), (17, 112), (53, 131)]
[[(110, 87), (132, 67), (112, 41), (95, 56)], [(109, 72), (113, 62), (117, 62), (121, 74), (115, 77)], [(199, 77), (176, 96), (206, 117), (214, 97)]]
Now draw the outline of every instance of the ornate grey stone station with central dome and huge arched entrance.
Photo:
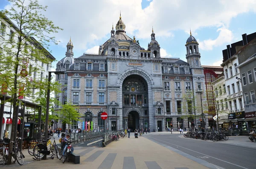
[[(63, 93), (55, 97), (62, 104), (79, 106), (83, 117), (72, 128), (101, 130), (102, 112), (108, 113), (105, 128), (109, 130), (143, 127), (158, 132), (171, 124), (174, 130), (189, 128), (195, 115), (201, 126), (198, 115), (207, 114), (208, 109), (195, 37), (190, 34), (186, 40), (187, 60), (183, 61), (161, 57), (153, 30), (144, 49), (135, 37), (128, 37), (125, 27), (120, 16), (116, 31), (112, 27), (111, 37), (99, 46), (99, 54), (73, 57), (75, 46), (71, 39), (67, 43), (66, 57), (56, 65), (56, 71), (65, 72), (56, 77)], [(204, 122), (208, 126), (208, 119)], [(55, 127), (66, 129), (61, 121)]]

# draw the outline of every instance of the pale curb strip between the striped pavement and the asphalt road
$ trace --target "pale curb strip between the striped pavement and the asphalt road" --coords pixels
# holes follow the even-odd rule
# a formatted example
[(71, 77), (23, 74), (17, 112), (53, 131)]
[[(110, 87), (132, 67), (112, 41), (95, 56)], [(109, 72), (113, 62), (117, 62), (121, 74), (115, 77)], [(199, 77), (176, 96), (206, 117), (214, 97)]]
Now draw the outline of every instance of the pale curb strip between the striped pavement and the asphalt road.
[(148, 137), (145, 137), (145, 138), (148, 139), (148, 140), (151, 140), (151, 141), (153, 141), (154, 143), (157, 143), (157, 144), (159, 144), (159, 145), (161, 145), (161, 146), (163, 146), (163, 147), (166, 147), (167, 149), (169, 149), (169, 150), (171, 150), (171, 151), (173, 151), (173, 152), (176, 152), (176, 153), (178, 153), (179, 155), (182, 155), (182, 156), (184, 156), (184, 157), (186, 157), (186, 158), (189, 158), (190, 160), (193, 160), (193, 161), (195, 161), (195, 162), (197, 162), (197, 163), (199, 163), (199, 164), (201, 164), (201, 165), (203, 165), (203, 166), (206, 166), (206, 167), (208, 167), (209, 169), (224, 169), (224, 168), (222, 168), (222, 167), (220, 167), (220, 166), (217, 166), (217, 165), (215, 165), (215, 164), (209, 163), (209, 162), (207, 162), (207, 161), (205, 161), (205, 160), (202, 160), (202, 159), (200, 159), (200, 158), (196, 158), (196, 157), (194, 157), (194, 156), (192, 156), (192, 155), (189, 155), (189, 154), (187, 154), (187, 153), (185, 153), (185, 152), (182, 152), (182, 151), (180, 151), (180, 150), (178, 150), (178, 149), (175, 149), (175, 148), (173, 148), (173, 147), (171, 147), (171, 146), (167, 146), (166, 144), (160, 143), (160, 142), (158, 142), (158, 141), (156, 141), (156, 140), (150, 139), (150, 138), (148, 138)]

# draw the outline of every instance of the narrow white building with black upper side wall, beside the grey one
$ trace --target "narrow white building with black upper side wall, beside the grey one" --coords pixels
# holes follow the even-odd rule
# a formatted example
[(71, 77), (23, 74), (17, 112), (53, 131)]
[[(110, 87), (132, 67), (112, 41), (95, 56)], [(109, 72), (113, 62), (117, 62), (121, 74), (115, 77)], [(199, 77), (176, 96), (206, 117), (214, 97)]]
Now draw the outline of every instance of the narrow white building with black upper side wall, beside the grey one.
[[(244, 86), (243, 78), (247, 75), (240, 73), (239, 64), (241, 62), (241, 52), (256, 38), (256, 32), (252, 34), (242, 34), (242, 40), (236, 43), (227, 45), (227, 49), (223, 50), (223, 66), (225, 77), (225, 88), (227, 91), (227, 103), (229, 107), (228, 120), (229, 125), (238, 124), (241, 134), (248, 133), (247, 121), (245, 120), (245, 99), (242, 86)], [(248, 55), (247, 55), (248, 57)], [(240, 62), (239, 62), (240, 60)], [(249, 95), (249, 94), (248, 94)], [(226, 102), (225, 102), (226, 103)], [(226, 119), (223, 119), (228, 121)], [(225, 123), (224, 123), (225, 124)], [(226, 124), (226, 127), (227, 125)]]

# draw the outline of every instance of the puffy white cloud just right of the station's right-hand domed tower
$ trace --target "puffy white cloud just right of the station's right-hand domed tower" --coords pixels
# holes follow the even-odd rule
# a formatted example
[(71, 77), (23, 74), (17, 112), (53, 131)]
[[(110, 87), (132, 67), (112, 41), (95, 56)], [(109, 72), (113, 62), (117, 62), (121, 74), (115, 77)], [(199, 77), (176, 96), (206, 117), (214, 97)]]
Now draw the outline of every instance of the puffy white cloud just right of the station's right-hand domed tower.
[(199, 48), (202, 50), (212, 50), (213, 47), (221, 46), (223, 44), (228, 44), (232, 42), (233, 33), (229, 29), (222, 27), (219, 28), (217, 32), (219, 32), (219, 35), (215, 40), (208, 39), (200, 42), (200, 40), (198, 39)]

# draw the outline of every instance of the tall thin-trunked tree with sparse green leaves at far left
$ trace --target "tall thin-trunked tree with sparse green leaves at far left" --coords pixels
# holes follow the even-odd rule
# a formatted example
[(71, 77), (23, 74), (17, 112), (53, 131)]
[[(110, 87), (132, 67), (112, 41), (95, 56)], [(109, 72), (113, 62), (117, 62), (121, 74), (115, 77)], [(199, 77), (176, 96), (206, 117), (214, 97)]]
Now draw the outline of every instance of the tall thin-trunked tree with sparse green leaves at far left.
[[(0, 84), (2, 91), (6, 95), (12, 96), (13, 119), (17, 119), (17, 108), (19, 104), (18, 96), (26, 96), (31, 93), (31, 89), (40, 86), (47, 89), (47, 86), (41, 85), (41, 80), (34, 80), (33, 84), (27, 77), (22, 77), (21, 70), (26, 68), (24, 61), (33, 61), (35, 63), (51, 63), (49, 43), (57, 44), (55, 37), (51, 34), (61, 30), (58, 26), (47, 19), (41, 11), (46, 11), (47, 6), (41, 6), (38, 0), (9, 0), (12, 4), (11, 9), (0, 11), (0, 18), (15, 28), (15, 32), (5, 32), (8, 39), (1, 39), (0, 46)], [(14, 24), (15, 25), (14, 25)], [(2, 27), (1, 32), (5, 31)], [(40, 72), (41, 66), (35, 66), (29, 71)], [(4, 87), (3, 87), (4, 86)], [(26, 89), (25, 89), (26, 88)], [(17, 124), (12, 125), (11, 140), (16, 140)], [(10, 146), (12, 148), (12, 142)], [(11, 155), (9, 155), (8, 164), (11, 164)]]

